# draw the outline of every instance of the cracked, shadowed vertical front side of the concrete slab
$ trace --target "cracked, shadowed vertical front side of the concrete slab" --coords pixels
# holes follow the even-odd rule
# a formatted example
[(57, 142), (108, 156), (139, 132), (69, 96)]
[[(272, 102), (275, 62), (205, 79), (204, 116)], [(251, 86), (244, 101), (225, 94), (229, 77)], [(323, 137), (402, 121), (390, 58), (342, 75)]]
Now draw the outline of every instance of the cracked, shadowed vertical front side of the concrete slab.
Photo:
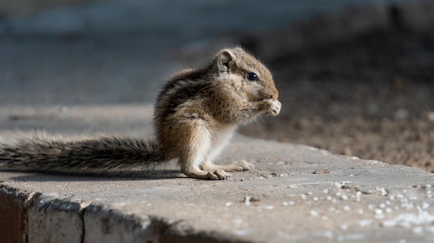
[(2, 242), (243, 242), (194, 231), (182, 220), (138, 217), (69, 199), (0, 184)]

